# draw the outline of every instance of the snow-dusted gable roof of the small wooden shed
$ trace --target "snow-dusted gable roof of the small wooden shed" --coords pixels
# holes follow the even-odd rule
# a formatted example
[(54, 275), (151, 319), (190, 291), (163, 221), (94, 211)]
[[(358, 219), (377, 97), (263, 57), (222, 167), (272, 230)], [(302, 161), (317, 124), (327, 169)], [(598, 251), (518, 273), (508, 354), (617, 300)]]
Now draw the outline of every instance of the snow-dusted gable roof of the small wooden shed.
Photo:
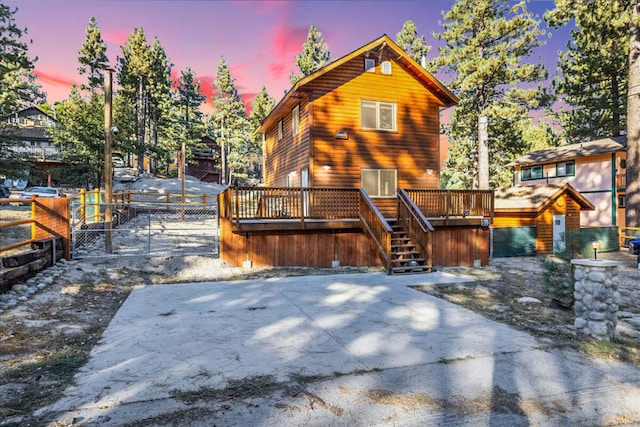
[(496, 212), (540, 213), (565, 193), (570, 195), (582, 210), (595, 210), (593, 203), (570, 184), (539, 184), (497, 188), (494, 191), (494, 209)]

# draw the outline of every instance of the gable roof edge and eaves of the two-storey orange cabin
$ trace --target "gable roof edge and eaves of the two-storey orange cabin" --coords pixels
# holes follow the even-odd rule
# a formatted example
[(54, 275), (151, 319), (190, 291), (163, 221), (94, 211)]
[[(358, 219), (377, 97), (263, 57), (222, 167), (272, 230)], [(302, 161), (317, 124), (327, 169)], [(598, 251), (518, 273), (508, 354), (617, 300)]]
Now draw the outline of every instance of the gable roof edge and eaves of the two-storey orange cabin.
[(340, 59), (330, 62), (325, 65), (318, 71), (313, 74), (310, 74), (302, 79), (300, 79), (289, 91), (285, 94), (285, 96), (278, 102), (278, 104), (271, 110), (271, 113), (262, 121), (258, 129), (254, 133), (265, 133), (268, 128), (273, 125), (273, 122), (280, 115), (279, 112), (282, 108), (289, 104), (291, 99), (299, 97), (300, 92), (304, 92), (304, 86), (309, 82), (327, 74), (328, 72), (340, 67), (346, 62), (352, 60), (353, 58), (367, 53), (379, 46), (389, 47), (393, 50), (397, 57), (396, 61), (400, 62), (404, 67), (409, 69), (412, 74), (416, 76), (416, 79), (420, 80), (425, 86), (427, 86), (433, 95), (440, 100), (442, 106), (444, 108), (452, 107), (458, 103), (458, 98), (451, 92), (449, 89), (445, 87), (438, 79), (436, 79), (433, 74), (422, 68), (420, 64), (413, 60), (407, 53), (398, 46), (393, 40), (389, 38), (386, 34), (378, 37), (377, 39), (367, 43), (366, 45), (360, 47), (359, 49), (354, 50), (353, 52), (343, 56)]

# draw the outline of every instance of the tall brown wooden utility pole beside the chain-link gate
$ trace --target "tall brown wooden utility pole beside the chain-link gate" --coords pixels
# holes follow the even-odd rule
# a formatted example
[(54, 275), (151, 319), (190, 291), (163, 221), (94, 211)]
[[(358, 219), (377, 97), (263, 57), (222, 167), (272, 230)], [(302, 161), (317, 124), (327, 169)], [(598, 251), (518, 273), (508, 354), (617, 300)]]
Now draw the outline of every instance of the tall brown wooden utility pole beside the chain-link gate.
[(105, 228), (105, 252), (111, 254), (113, 246), (111, 241), (111, 204), (113, 201), (113, 131), (112, 131), (112, 73), (111, 68), (104, 70), (104, 228)]

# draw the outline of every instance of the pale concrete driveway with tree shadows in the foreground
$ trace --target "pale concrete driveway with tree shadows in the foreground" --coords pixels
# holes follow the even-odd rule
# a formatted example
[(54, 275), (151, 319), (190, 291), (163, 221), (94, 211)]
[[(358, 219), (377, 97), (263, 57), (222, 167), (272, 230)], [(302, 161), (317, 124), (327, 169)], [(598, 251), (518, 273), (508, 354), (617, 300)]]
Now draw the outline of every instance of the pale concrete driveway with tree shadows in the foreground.
[(443, 273), (135, 289), (76, 385), (74, 425), (640, 422), (638, 368), (592, 362), (411, 289)]

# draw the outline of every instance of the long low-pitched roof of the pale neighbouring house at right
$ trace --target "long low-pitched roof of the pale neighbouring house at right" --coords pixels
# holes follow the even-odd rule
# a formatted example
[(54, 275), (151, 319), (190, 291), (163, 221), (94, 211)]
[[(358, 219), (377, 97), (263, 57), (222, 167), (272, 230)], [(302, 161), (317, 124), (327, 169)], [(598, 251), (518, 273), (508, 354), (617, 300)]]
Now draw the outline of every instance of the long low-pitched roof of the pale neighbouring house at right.
[(562, 160), (571, 160), (578, 157), (615, 153), (626, 149), (627, 136), (621, 135), (614, 136), (613, 138), (603, 138), (595, 141), (580, 142), (577, 144), (548, 148), (546, 150), (533, 151), (507, 164), (507, 166), (552, 163)]

